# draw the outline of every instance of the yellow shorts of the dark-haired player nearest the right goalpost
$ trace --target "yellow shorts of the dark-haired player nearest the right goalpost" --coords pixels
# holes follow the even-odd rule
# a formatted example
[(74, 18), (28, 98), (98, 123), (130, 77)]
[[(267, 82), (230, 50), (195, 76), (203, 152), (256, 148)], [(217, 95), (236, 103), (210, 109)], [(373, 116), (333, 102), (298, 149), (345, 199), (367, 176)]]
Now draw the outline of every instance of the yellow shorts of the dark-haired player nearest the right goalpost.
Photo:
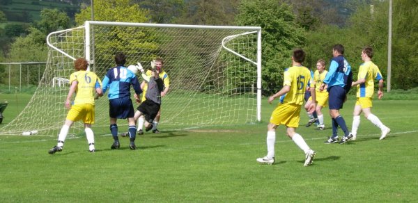
[(270, 117), (270, 123), (286, 127), (299, 127), (300, 121), (300, 105), (296, 104), (279, 104)]

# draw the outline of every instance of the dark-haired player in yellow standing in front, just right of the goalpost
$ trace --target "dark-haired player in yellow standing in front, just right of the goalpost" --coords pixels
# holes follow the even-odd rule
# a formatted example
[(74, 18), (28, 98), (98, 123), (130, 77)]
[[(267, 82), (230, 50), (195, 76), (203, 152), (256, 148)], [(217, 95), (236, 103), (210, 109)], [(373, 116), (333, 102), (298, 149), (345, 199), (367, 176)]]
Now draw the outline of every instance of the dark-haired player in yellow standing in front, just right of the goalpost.
[[(302, 66), (305, 53), (302, 49), (294, 49), (292, 54), (292, 67), (284, 71), (283, 88), (276, 94), (269, 97), (271, 104), (274, 99), (280, 97), (280, 103), (274, 109), (270, 117), (267, 132), (267, 156), (258, 158), (258, 163), (272, 165), (274, 163), (274, 144), (276, 142), (276, 128), (280, 124), (286, 126), (286, 134), (293, 142), (302, 149), (305, 154), (304, 166), (311, 165), (314, 161), (315, 151), (310, 149), (296, 128), (300, 122), (300, 108), (304, 101), (304, 91), (311, 80), (311, 73), (307, 67)], [(315, 90), (311, 88), (311, 97), (316, 101)], [(309, 112), (315, 111), (315, 102), (309, 107)]]

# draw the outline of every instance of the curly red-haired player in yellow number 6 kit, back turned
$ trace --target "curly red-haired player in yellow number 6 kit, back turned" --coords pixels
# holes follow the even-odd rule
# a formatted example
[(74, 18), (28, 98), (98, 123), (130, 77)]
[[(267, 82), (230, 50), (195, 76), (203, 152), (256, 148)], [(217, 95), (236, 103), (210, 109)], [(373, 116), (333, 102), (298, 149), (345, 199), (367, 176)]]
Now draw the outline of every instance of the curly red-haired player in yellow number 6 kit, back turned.
[[(94, 124), (95, 110), (94, 110), (94, 95), (97, 92), (99, 96), (103, 95), (102, 81), (94, 72), (88, 72), (88, 62), (84, 58), (77, 58), (74, 62), (76, 72), (70, 75), (70, 90), (68, 91), (67, 99), (65, 100), (65, 107), (70, 109), (68, 111), (65, 123), (61, 128), (58, 136), (58, 143), (49, 150), (49, 154), (61, 152), (65, 138), (71, 125), (83, 120), (84, 131), (88, 142), (89, 152), (95, 152), (94, 134), (91, 130), (91, 124)], [(73, 105), (71, 106), (71, 97), (76, 93)]]

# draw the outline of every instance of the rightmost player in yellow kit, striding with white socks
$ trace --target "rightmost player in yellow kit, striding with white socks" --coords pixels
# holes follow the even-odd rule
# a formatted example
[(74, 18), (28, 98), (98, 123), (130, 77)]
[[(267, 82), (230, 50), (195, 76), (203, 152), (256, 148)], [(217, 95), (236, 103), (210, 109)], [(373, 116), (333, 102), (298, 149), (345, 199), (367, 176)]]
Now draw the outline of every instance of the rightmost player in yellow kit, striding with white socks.
[(376, 127), (382, 131), (380, 140), (384, 139), (390, 132), (390, 129), (383, 124), (379, 118), (371, 113), (372, 98), (374, 93), (374, 81), (379, 81), (378, 99), (383, 96), (383, 78), (377, 65), (375, 65), (371, 58), (373, 58), (373, 49), (366, 47), (362, 50), (362, 60), (364, 63), (359, 67), (359, 74), (357, 81), (352, 83), (352, 86), (357, 86), (357, 101), (355, 102), (353, 111), (353, 127), (351, 133), (353, 140), (357, 138), (357, 129), (360, 124), (360, 114), (363, 112), (364, 117), (370, 120)]

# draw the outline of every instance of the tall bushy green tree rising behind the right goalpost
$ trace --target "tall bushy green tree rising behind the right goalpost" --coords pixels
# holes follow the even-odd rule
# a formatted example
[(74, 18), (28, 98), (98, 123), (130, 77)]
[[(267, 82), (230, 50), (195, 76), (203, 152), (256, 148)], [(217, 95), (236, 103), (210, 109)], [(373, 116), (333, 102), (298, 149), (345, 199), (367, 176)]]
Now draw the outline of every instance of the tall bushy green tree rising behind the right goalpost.
[(277, 92), (283, 85), (284, 69), (291, 66), (291, 50), (302, 47), (305, 31), (284, 1), (243, 0), (238, 10), (238, 25), (261, 26), (263, 94)]

